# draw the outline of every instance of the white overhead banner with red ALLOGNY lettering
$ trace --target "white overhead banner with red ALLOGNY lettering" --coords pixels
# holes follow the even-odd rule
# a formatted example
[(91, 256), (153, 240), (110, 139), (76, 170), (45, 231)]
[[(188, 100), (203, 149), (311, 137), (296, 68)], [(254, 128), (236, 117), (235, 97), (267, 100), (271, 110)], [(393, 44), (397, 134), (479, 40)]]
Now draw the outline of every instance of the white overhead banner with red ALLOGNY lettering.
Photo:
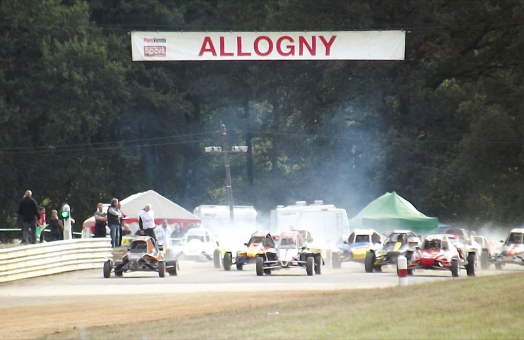
[(405, 31), (132, 32), (133, 61), (404, 60)]

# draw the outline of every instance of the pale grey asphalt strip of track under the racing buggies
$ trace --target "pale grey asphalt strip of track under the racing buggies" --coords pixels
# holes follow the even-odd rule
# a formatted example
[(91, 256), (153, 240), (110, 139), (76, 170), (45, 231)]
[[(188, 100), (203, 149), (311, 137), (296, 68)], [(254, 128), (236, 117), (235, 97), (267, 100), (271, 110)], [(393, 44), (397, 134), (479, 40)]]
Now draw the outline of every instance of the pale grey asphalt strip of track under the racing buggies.
[[(516, 265), (505, 266), (502, 272), (524, 270)], [(479, 270), (478, 276), (497, 275), (494, 269)], [(461, 278), (466, 271), (461, 270)], [(460, 278), (459, 278), (460, 279)], [(409, 277), (409, 284), (453, 280), (449, 271), (417, 270)], [(398, 285), (396, 267), (384, 267), (381, 273), (366, 273), (364, 265), (346, 262), (341, 269), (324, 266), (322, 275), (308, 277), (305, 269), (276, 270), (273, 275), (257, 277), (255, 266), (231, 271), (214, 269), (212, 262), (180, 262), (178, 276), (159, 278), (156, 272), (129, 272), (124, 277), (113, 275), (105, 279), (100, 270), (81, 270), (47, 277), (20, 280), (0, 285), (0, 306), (13, 305), (13, 299), (67, 297), (74, 295), (115, 294), (171, 294), (198, 292), (253, 292), (288, 290), (339, 290), (358, 288), (383, 288)], [(21, 298), (21, 299), (20, 299)]]

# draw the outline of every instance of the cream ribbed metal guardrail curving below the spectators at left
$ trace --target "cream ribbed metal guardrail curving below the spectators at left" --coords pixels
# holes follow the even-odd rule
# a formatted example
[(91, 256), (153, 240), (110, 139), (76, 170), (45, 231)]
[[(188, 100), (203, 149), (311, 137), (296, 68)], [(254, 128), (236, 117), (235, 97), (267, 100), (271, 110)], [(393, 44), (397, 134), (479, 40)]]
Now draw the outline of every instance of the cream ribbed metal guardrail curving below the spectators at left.
[(0, 249), (0, 282), (79, 269), (102, 268), (111, 239), (69, 239)]

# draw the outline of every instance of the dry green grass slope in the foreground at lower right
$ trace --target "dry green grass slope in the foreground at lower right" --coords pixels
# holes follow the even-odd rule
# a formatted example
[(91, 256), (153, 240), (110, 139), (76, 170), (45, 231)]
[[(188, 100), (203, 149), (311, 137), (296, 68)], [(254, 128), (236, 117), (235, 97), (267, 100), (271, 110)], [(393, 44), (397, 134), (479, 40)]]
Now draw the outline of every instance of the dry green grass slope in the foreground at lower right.
[[(82, 330), (81, 337), (169, 339), (508, 339), (524, 338), (523, 273), (409, 287), (304, 293), (302, 300)], [(258, 293), (271, 299), (271, 293)], [(268, 315), (268, 313), (279, 314)], [(126, 312), (123, 311), (123, 314)], [(115, 315), (115, 317), (117, 317)], [(121, 316), (118, 316), (121, 317)], [(79, 331), (50, 339), (79, 338)]]

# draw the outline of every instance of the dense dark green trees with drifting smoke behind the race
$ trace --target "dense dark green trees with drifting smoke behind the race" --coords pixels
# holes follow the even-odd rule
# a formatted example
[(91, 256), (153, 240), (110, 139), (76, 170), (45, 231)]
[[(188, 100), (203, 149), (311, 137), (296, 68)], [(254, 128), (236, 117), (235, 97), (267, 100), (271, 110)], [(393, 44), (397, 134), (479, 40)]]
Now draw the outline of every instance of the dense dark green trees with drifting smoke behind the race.
[[(0, 2), (0, 224), (26, 189), (80, 220), (154, 189), (187, 209), (395, 190), (472, 226), (523, 220), (520, 1)], [(131, 30), (405, 29), (406, 61), (130, 60)]]

